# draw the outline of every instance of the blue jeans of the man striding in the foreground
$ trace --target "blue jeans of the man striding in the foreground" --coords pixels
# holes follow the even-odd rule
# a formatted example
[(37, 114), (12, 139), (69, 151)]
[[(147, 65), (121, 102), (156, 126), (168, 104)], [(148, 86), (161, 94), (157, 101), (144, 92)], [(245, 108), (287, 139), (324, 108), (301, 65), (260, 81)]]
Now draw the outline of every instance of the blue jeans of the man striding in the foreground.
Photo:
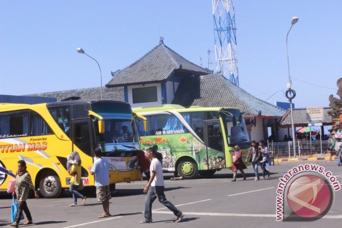
[(173, 212), (175, 216), (180, 215), (182, 212), (178, 210), (170, 201), (168, 201), (164, 194), (164, 186), (150, 186), (145, 198), (145, 221), (152, 222), (152, 203), (158, 197), (161, 204), (166, 206)]

